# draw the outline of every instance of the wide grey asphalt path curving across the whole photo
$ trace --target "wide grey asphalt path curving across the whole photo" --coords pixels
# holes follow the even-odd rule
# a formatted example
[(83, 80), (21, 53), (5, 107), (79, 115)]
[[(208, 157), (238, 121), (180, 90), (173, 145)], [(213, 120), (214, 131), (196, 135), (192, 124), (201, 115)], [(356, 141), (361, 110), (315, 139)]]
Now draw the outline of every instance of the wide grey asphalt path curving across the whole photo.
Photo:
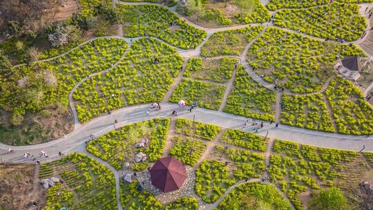
[[(106, 114), (91, 120), (73, 133), (66, 135), (66, 138), (62, 137), (44, 144), (32, 146), (7, 146), (0, 144), (0, 159), (6, 162), (30, 162), (30, 160), (24, 160), (22, 157), (26, 151), (37, 156), (41, 150), (44, 150), (50, 157), (56, 156), (59, 151), (69, 153), (70, 151), (75, 151), (75, 148), (79, 148), (79, 146), (84, 146), (84, 142), (90, 139), (90, 134), (98, 137), (113, 131), (115, 129), (115, 120), (118, 120), (115, 127), (119, 128), (126, 124), (133, 124), (156, 117), (171, 117), (171, 113), (174, 110), (178, 112), (178, 117), (193, 120), (193, 115), (195, 115), (195, 120), (197, 121), (216, 124), (224, 128), (240, 129), (242, 128), (242, 124), (247, 120), (246, 117), (211, 111), (204, 108), (195, 108), (192, 113), (189, 113), (187, 108), (179, 108), (177, 104), (161, 104), (161, 111), (151, 111), (151, 113), (146, 116), (145, 113), (149, 106), (150, 104), (144, 104), (121, 108), (117, 111), (113, 111), (111, 115)], [(260, 121), (256, 120), (256, 122)], [(254, 128), (248, 127), (245, 128), (244, 131), (252, 133)], [(276, 128), (274, 124), (269, 125), (268, 122), (265, 123), (264, 128), (259, 130), (258, 134), (266, 135), (267, 131), (268, 137), (289, 140), (300, 144), (353, 151), (359, 151), (363, 145), (365, 145), (365, 151), (373, 151), (373, 137), (323, 133), (284, 125), (280, 125)], [(8, 153), (8, 151), (6, 151), (8, 148), (14, 149), (15, 152)]]

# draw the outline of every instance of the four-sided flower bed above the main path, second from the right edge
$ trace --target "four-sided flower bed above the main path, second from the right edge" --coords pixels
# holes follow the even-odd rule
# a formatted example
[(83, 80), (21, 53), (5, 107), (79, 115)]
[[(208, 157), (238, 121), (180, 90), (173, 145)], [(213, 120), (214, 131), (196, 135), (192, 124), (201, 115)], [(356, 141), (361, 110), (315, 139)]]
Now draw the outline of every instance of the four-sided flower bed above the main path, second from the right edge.
[(281, 123), (316, 131), (335, 132), (331, 114), (322, 94), (291, 96), (284, 94)]

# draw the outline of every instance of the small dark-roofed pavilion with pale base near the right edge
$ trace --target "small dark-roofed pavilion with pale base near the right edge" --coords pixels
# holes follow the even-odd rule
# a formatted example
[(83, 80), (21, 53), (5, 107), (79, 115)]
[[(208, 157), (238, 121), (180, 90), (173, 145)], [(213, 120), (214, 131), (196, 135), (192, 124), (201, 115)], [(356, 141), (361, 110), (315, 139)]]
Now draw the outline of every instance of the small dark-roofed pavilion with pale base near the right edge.
[(358, 56), (345, 57), (334, 66), (334, 69), (345, 77), (346, 79), (354, 79), (355, 81), (360, 77), (361, 61)]

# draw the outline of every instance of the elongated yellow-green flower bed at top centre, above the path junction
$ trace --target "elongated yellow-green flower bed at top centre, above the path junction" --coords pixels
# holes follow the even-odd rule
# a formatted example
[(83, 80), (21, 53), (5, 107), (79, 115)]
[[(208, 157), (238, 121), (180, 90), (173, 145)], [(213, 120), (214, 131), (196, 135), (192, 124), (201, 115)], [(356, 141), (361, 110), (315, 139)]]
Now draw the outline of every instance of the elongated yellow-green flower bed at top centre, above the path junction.
[(190, 26), (168, 8), (156, 5), (119, 5), (124, 37), (158, 37), (182, 49), (196, 48), (207, 32)]

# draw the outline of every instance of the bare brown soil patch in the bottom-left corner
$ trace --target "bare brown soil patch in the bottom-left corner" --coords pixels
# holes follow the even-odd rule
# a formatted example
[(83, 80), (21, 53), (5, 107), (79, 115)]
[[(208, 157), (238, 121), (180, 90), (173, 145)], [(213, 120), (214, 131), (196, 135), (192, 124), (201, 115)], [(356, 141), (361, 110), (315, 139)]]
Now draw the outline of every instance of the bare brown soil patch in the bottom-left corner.
[(34, 176), (35, 164), (0, 164), (0, 209), (35, 209), (33, 201), (43, 207), (46, 193), (39, 184), (34, 189)]

